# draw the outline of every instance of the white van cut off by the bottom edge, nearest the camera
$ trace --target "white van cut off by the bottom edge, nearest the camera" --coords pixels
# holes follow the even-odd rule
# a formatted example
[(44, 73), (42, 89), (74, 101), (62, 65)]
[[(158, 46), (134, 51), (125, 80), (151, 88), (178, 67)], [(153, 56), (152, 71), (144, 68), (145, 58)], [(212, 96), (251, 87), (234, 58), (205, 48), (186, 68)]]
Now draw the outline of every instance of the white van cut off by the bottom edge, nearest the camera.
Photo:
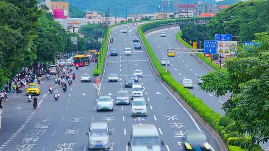
[(154, 124), (132, 125), (131, 140), (128, 141), (131, 151), (161, 151), (163, 145)]

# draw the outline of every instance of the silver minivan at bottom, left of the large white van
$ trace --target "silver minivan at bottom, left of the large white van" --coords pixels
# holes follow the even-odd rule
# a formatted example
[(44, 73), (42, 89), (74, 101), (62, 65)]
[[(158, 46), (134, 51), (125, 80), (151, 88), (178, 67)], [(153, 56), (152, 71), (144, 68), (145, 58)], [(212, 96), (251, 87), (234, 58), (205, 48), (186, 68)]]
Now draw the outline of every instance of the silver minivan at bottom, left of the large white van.
[(105, 122), (93, 122), (89, 130), (88, 149), (109, 149), (109, 130)]

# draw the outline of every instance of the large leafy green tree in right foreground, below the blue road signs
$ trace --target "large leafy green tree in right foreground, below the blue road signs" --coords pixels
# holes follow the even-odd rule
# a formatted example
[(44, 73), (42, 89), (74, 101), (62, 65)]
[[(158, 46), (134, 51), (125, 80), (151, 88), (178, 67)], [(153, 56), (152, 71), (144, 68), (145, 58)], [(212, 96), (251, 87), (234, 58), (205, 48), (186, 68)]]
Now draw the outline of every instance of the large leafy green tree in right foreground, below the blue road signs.
[(240, 50), (238, 57), (226, 61), (227, 71), (204, 75), (201, 86), (217, 96), (231, 94), (224, 110), (240, 133), (251, 136), (252, 145), (269, 138), (269, 34), (255, 36), (259, 47)]

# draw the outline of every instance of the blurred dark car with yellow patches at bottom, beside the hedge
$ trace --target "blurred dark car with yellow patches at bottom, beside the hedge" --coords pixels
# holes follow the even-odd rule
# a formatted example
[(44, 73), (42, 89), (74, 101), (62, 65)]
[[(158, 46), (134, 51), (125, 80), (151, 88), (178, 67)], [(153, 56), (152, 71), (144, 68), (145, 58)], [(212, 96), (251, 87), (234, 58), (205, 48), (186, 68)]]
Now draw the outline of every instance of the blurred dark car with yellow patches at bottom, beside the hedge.
[(183, 138), (184, 151), (211, 151), (211, 145), (203, 132), (199, 130), (187, 130)]

